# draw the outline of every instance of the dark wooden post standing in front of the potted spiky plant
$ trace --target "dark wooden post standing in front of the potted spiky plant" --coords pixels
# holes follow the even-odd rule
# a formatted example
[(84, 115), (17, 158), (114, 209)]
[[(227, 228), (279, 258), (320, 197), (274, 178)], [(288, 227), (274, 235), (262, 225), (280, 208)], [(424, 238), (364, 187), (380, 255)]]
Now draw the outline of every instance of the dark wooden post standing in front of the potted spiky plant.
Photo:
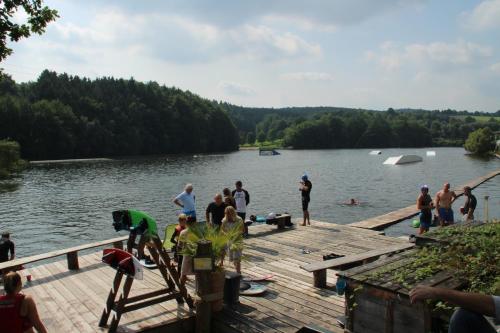
[[(212, 253), (212, 242), (200, 240), (198, 242), (197, 256)], [(210, 333), (212, 326), (212, 306), (204, 300), (204, 296), (210, 294), (210, 271), (195, 272), (198, 285), (198, 297), (196, 302), (196, 333)]]

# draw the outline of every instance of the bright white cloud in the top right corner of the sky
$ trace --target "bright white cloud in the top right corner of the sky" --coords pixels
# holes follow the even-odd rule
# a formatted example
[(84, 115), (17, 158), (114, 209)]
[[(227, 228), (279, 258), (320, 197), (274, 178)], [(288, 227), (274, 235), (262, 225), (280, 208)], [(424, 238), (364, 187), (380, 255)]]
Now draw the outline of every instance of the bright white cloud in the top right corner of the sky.
[(486, 0), (472, 12), (462, 15), (465, 26), (472, 30), (487, 30), (500, 27), (500, 0)]

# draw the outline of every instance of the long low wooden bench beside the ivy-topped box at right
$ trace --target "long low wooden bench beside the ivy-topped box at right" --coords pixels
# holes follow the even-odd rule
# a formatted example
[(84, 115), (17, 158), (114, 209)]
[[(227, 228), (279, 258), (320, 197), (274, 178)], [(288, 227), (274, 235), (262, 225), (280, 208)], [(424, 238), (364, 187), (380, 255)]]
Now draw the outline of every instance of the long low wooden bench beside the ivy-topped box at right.
[(352, 264), (363, 264), (366, 263), (370, 260), (377, 259), (381, 255), (392, 253), (392, 252), (399, 252), (403, 251), (409, 248), (414, 247), (415, 244), (412, 243), (405, 243), (405, 244), (398, 244), (398, 245), (392, 245), (389, 247), (384, 247), (381, 249), (375, 249), (371, 251), (367, 251), (364, 253), (359, 253), (359, 254), (353, 254), (341, 258), (336, 258), (336, 259), (330, 259), (330, 260), (324, 260), (324, 261), (319, 261), (319, 262), (313, 262), (307, 265), (300, 266), (300, 268), (313, 273), (313, 284), (317, 288), (325, 288), (326, 287), (326, 270), (327, 269), (334, 269), (334, 268), (341, 268), (346, 265), (351, 265)]

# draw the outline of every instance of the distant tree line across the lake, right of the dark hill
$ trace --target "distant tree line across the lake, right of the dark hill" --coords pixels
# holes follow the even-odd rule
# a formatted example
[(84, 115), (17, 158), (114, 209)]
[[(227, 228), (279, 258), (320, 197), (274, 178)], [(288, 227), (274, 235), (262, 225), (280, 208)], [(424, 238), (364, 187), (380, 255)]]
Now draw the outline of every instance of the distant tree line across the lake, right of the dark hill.
[(469, 133), (500, 130), (495, 113), (455, 110), (244, 108), (219, 103), (238, 130), (240, 143), (282, 140), (297, 149), (462, 146)]

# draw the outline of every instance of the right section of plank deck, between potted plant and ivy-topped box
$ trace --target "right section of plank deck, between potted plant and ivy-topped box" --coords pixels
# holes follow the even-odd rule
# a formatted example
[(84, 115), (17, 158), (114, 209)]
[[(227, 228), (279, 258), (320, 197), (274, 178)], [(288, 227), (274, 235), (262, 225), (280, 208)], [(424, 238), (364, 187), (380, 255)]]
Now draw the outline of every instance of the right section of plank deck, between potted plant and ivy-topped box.
[[(311, 223), (285, 231), (267, 225), (250, 227), (242, 273), (252, 277), (274, 274), (274, 279), (263, 283), (268, 288), (263, 296), (240, 296), (238, 306), (219, 314), (215, 320), (217, 332), (296, 332), (310, 325), (343, 332), (336, 322), (336, 317), (344, 314), (343, 296), (313, 287), (312, 274), (299, 266), (322, 261), (323, 255), (332, 252), (349, 255), (407, 242), (371, 230)], [(304, 253), (304, 249), (310, 253)], [(328, 271), (331, 284), (336, 281), (335, 273)]]

